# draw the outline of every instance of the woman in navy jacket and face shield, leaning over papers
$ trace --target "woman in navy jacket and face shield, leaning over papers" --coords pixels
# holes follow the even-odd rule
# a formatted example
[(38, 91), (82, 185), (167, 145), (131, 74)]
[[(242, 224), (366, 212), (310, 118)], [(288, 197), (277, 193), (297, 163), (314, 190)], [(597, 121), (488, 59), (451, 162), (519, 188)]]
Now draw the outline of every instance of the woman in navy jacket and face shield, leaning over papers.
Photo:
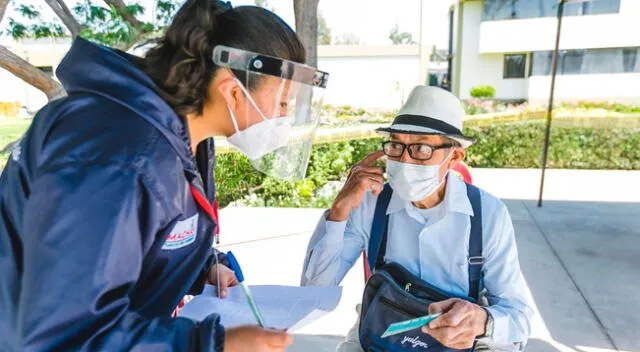
[(171, 313), (235, 280), (212, 249), (212, 137), (304, 175), (327, 78), (304, 61), (279, 17), (214, 0), (188, 0), (144, 58), (77, 39), (68, 96), (0, 180), (0, 350), (283, 351), (283, 332)]

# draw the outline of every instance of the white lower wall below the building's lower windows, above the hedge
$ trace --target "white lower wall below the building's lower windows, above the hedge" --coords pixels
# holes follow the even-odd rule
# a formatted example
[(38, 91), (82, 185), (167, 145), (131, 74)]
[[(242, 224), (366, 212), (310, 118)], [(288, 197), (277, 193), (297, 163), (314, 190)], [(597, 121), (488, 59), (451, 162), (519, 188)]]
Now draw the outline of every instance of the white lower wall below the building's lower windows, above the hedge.
[[(529, 102), (546, 104), (551, 76), (529, 78)], [(640, 104), (640, 73), (559, 75), (554, 93), (557, 101), (616, 101)]]

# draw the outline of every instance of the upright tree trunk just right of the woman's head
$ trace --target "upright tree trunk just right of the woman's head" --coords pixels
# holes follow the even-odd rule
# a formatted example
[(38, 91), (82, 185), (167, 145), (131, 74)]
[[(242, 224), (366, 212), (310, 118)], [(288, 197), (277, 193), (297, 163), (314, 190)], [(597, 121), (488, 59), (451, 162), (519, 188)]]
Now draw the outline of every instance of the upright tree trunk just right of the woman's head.
[(307, 64), (313, 67), (318, 67), (318, 2), (293, 0), (296, 33), (307, 50)]

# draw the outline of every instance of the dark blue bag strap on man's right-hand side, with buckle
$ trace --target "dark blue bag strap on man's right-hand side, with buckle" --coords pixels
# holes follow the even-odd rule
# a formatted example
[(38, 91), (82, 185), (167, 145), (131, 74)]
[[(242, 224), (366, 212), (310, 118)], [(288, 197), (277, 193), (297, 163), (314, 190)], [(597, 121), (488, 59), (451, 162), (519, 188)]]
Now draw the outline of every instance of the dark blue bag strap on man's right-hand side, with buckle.
[(468, 183), (466, 185), (467, 197), (473, 209), (469, 234), (469, 297), (478, 299), (482, 283), (482, 264), (484, 264), (482, 256), (482, 206), (480, 190)]

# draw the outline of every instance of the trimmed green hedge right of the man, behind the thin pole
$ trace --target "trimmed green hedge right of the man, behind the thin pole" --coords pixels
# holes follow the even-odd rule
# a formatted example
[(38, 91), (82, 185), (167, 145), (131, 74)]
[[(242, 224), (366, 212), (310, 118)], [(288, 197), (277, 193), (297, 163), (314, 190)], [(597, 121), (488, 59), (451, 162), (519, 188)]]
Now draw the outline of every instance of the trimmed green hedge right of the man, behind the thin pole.
[[(472, 167), (539, 168), (544, 143), (541, 121), (470, 128), (478, 139), (469, 149)], [(559, 169), (640, 169), (640, 130), (554, 126), (548, 167)]]

